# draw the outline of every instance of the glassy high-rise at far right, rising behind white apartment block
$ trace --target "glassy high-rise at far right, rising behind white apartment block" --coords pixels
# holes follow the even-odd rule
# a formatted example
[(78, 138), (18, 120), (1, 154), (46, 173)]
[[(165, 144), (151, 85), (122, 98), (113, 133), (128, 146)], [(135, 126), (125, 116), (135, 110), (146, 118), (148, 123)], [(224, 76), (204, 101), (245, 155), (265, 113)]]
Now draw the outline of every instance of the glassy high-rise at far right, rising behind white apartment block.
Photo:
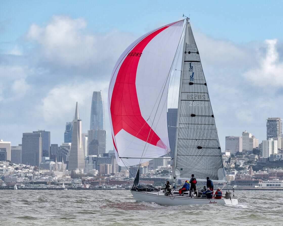
[(275, 140), (282, 137), (282, 120), (281, 118), (266, 119), (266, 140), (273, 138)]

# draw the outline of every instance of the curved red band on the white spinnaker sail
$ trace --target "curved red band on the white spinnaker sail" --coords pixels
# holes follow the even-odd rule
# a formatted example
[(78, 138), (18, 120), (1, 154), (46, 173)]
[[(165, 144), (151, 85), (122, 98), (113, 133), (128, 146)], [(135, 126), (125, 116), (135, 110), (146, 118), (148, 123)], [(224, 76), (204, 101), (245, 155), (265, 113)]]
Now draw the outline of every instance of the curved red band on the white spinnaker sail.
[[(143, 38), (130, 53), (142, 53), (146, 45), (157, 34), (175, 23), (166, 25), (152, 32)], [(141, 116), (136, 90), (136, 72), (139, 60), (139, 56), (127, 56), (117, 74), (110, 106), (114, 136), (121, 131), (121, 129), (124, 129), (129, 134), (149, 144), (167, 149), (167, 146)]]

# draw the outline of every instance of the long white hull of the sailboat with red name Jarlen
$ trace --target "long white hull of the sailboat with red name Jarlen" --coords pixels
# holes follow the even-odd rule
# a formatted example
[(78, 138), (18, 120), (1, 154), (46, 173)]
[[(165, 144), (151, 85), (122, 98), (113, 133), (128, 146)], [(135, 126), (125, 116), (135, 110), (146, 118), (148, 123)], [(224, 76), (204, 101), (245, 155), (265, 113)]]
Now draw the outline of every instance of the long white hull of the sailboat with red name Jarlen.
[(160, 192), (136, 192), (131, 191), (136, 201), (157, 203), (159, 205), (177, 206), (177, 205), (192, 205), (192, 204), (222, 204), (222, 205), (237, 205), (238, 199), (206, 199), (188, 196), (166, 196)]

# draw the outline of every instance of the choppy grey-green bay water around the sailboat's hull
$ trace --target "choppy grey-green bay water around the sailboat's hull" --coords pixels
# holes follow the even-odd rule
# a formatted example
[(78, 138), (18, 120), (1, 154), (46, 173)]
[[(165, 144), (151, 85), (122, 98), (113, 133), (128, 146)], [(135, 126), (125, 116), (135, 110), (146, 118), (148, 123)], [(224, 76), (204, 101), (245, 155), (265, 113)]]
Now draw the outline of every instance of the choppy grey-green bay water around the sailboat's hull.
[(128, 190), (0, 190), (0, 225), (283, 225), (282, 195), (236, 191), (237, 206), (172, 207)]

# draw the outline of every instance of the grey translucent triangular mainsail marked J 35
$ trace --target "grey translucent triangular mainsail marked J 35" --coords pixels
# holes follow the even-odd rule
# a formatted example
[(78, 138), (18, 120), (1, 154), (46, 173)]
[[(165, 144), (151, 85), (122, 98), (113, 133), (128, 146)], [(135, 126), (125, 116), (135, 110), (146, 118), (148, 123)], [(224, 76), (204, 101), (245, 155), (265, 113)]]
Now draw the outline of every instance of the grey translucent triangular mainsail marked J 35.
[(187, 25), (184, 69), (179, 102), (176, 177), (225, 181), (215, 119), (200, 55)]

